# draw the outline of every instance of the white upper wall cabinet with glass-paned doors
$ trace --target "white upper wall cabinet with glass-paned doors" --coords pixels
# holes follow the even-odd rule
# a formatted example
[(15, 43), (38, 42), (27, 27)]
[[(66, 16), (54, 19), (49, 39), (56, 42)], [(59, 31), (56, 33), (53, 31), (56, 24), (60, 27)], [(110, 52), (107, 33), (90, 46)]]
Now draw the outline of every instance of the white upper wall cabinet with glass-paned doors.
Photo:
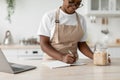
[(120, 0), (88, 0), (88, 15), (120, 16)]

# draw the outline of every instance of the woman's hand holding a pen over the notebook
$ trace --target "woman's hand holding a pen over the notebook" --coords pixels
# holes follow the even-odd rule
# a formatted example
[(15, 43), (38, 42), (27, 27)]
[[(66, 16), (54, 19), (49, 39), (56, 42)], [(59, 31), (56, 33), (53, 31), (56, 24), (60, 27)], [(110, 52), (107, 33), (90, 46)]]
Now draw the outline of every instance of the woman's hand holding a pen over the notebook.
[(66, 55), (63, 56), (62, 61), (65, 62), (65, 63), (72, 64), (76, 61), (76, 57), (72, 54), (66, 54)]

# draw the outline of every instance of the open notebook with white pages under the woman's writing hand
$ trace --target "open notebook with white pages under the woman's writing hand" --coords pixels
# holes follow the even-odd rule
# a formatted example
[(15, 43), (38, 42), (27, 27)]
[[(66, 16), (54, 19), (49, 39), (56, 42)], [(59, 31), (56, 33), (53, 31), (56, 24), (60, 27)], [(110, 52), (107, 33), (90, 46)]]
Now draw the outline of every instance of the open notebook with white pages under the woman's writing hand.
[(67, 64), (62, 61), (52, 60), (52, 61), (43, 62), (43, 64), (51, 69), (54, 69), (54, 68), (68, 67), (68, 66), (81, 66), (81, 65), (85, 65), (86, 63), (83, 63), (80, 60), (78, 60), (73, 64)]

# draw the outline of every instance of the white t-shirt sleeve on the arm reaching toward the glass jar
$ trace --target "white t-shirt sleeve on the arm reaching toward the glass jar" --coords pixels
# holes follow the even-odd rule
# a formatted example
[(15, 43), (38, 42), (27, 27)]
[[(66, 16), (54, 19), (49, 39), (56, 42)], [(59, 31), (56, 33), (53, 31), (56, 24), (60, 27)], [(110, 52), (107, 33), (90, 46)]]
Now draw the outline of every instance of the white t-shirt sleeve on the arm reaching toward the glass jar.
[(83, 16), (81, 16), (81, 26), (84, 32), (83, 37), (81, 38), (80, 42), (86, 41), (87, 40), (87, 26), (86, 26), (86, 21)]

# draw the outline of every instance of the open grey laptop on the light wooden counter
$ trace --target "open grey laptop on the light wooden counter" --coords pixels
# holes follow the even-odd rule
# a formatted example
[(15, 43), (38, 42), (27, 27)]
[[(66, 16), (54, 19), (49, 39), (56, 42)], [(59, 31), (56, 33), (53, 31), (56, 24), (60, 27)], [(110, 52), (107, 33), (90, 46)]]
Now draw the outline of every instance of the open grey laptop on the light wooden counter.
[(2, 50), (0, 49), (0, 72), (17, 74), (35, 68), (36, 66), (9, 63), (5, 55), (3, 54)]

